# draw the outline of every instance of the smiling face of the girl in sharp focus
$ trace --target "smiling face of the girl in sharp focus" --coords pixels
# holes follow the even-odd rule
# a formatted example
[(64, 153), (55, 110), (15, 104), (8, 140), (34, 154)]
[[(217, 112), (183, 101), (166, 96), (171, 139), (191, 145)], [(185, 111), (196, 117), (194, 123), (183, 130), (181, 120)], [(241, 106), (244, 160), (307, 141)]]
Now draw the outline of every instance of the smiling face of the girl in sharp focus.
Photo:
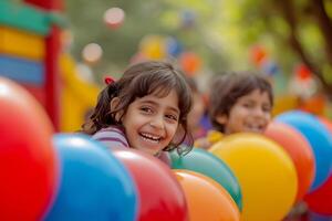
[(174, 90), (165, 97), (151, 94), (136, 98), (122, 122), (129, 146), (156, 155), (172, 141), (179, 115), (178, 96)]

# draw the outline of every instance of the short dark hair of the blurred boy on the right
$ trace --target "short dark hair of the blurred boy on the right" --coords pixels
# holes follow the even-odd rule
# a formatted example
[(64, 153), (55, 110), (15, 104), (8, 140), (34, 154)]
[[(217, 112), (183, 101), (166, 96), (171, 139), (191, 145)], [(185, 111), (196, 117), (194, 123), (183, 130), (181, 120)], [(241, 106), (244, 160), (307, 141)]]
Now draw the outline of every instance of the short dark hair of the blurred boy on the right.
[(237, 72), (218, 75), (212, 80), (209, 96), (209, 116), (212, 126), (225, 131), (225, 125), (216, 120), (218, 115), (229, 115), (231, 107), (238, 98), (250, 94), (255, 90), (267, 92), (271, 105), (273, 105), (273, 92), (271, 84), (262, 76), (250, 72)]

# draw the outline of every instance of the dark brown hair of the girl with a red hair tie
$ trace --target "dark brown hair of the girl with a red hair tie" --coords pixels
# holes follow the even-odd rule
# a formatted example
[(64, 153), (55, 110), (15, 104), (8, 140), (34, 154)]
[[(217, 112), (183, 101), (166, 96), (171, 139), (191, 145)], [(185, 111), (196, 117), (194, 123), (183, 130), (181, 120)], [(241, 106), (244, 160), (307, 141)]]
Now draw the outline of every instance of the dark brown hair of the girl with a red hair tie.
[[(85, 134), (93, 135), (111, 125), (121, 126), (121, 122), (117, 122), (115, 118), (116, 113), (124, 110), (123, 113), (125, 114), (128, 106), (136, 98), (153, 93), (164, 97), (172, 90), (175, 90), (178, 96), (178, 107), (180, 109), (179, 126), (184, 129), (184, 136), (178, 143), (172, 144), (164, 150), (170, 151), (179, 147), (185, 137), (190, 137), (190, 144), (187, 149), (177, 148), (179, 154), (190, 151), (193, 148), (193, 136), (187, 128), (187, 115), (193, 103), (191, 92), (183, 73), (167, 62), (147, 61), (129, 66), (118, 81), (108, 84), (100, 93), (97, 104), (90, 119), (82, 126), (82, 130)], [(114, 109), (111, 109), (111, 101), (114, 97), (118, 97), (121, 103)]]

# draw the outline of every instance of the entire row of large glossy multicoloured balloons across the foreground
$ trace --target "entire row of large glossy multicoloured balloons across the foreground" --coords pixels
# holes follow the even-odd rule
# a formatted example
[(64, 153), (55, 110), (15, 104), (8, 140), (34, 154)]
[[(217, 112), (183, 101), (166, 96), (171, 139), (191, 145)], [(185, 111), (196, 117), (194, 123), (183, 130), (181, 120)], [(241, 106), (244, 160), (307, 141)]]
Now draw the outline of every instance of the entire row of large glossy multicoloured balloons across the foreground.
[(1, 220), (281, 220), (303, 197), (332, 214), (325, 119), (286, 113), (266, 134), (277, 143), (231, 135), (209, 151), (172, 152), (170, 170), (133, 149), (54, 136), (40, 105), (4, 78), (0, 104)]

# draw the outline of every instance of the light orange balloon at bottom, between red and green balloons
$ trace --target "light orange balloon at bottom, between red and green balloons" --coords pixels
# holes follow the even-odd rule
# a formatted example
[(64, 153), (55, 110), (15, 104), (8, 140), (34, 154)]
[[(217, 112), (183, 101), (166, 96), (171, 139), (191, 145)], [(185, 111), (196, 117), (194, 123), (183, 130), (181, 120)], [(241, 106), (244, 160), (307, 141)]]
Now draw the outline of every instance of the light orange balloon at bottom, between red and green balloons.
[(198, 172), (174, 171), (185, 191), (190, 221), (240, 220), (237, 204), (218, 182)]

